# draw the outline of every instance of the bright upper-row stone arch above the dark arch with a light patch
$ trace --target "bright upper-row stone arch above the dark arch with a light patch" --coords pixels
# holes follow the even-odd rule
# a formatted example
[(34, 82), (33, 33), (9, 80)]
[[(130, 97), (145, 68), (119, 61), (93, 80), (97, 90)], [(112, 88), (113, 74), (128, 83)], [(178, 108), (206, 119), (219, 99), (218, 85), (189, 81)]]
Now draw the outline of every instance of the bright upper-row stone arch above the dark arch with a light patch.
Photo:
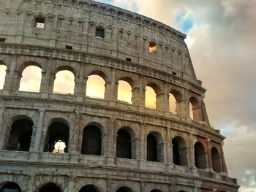
[(53, 75), (53, 82), (50, 82), (53, 85), (53, 93), (74, 93), (77, 72), (72, 66), (59, 66), (54, 70)]

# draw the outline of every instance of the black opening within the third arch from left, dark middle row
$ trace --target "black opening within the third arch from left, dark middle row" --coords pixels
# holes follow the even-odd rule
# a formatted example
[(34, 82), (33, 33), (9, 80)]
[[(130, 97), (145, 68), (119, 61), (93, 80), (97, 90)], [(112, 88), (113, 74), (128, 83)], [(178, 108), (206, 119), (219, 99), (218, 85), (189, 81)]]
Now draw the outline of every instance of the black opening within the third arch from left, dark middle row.
[(102, 132), (97, 126), (83, 128), (82, 154), (101, 155)]

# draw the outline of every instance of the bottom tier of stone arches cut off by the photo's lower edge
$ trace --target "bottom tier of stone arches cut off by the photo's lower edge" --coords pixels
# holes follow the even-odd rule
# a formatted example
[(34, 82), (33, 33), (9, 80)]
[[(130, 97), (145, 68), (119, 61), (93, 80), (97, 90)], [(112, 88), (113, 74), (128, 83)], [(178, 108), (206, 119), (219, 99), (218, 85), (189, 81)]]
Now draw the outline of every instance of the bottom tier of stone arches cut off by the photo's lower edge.
[[(115, 166), (0, 161), (0, 191), (15, 192), (237, 192), (235, 180), (203, 173), (161, 174)], [(8, 170), (6, 169), (8, 167)], [(224, 178), (225, 177), (225, 178)], [(225, 181), (224, 181), (225, 180)]]

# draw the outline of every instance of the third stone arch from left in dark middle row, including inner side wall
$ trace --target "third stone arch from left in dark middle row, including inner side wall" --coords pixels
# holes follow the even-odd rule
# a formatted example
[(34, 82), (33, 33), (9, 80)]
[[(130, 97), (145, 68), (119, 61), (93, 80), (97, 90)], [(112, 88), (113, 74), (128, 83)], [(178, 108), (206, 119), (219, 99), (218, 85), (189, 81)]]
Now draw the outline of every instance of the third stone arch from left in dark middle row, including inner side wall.
[[(85, 155), (104, 155), (105, 131), (105, 127), (97, 121), (87, 123), (83, 128), (81, 153)], [(92, 148), (89, 148), (89, 146)]]

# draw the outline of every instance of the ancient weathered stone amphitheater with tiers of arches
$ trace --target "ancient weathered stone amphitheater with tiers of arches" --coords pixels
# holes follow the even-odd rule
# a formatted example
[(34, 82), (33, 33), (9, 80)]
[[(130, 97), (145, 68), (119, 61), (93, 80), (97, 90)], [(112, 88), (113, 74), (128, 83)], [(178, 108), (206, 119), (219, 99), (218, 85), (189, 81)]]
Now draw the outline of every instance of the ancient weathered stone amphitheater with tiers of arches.
[[(184, 34), (90, 0), (0, 1), (0, 13), (0, 191), (238, 191)], [(29, 66), (42, 70), (38, 91), (20, 90)], [(73, 94), (53, 92), (63, 70)], [(87, 95), (91, 75), (104, 98)], [(120, 81), (131, 102), (118, 99)]]

